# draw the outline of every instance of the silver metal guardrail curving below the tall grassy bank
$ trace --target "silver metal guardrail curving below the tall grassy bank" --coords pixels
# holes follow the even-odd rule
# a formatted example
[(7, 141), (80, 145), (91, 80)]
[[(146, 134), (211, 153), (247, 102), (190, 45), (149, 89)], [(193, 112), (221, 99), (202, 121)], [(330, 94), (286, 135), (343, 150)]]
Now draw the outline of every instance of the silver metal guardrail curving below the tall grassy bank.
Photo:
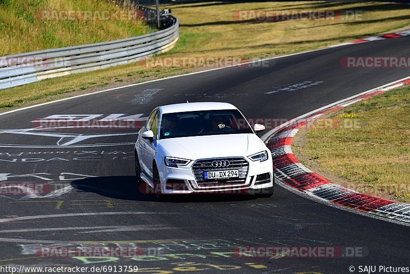
[[(144, 21), (153, 24), (155, 11), (140, 10)], [(161, 30), (141, 36), (0, 57), (0, 89), (136, 62), (165, 52), (178, 40), (178, 19), (161, 12), (160, 23)]]

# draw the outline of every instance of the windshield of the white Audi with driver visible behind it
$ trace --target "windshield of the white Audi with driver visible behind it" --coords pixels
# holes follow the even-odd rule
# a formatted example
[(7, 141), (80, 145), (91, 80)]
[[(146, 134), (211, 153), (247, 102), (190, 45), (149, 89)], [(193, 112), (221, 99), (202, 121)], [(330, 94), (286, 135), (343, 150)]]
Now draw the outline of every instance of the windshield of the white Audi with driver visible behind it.
[(159, 139), (253, 133), (237, 109), (189, 111), (162, 114)]

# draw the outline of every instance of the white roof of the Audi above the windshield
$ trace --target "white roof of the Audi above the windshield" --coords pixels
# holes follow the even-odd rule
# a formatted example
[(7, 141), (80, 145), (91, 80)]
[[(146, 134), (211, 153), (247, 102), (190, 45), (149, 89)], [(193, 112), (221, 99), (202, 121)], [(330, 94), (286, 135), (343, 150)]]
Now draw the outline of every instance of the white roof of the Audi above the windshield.
[(222, 109), (237, 109), (234, 105), (221, 102), (196, 102), (196, 103), (182, 103), (172, 104), (158, 107), (159, 111), (163, 113), (175, 113), (186, 111), (200, 111), (200, 110), (222, 110)]

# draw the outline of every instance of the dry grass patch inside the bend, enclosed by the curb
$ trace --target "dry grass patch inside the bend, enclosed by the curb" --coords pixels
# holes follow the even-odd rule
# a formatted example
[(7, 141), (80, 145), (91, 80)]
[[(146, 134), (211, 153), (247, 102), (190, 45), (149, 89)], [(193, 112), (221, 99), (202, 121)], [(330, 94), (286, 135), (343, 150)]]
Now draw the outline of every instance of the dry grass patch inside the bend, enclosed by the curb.
[[(307, 167), (335, 183), (410, 202), (410, 87), (386, 91), (329, 114), (355, 128), (304, 129), (292, 149)], [(349, 123), (352, 124), (352, 123)]]

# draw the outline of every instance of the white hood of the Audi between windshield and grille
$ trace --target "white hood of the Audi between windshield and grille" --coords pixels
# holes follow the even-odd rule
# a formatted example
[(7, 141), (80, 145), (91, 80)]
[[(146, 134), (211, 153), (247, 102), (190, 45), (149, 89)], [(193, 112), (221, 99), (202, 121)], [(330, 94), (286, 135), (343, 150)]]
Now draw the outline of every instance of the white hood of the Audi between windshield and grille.
[(165, 156), (189, 160), (246, 157), (266, 149), (257, 135), (246, 133), (163, 139), (159, 145), (169, 153)]

